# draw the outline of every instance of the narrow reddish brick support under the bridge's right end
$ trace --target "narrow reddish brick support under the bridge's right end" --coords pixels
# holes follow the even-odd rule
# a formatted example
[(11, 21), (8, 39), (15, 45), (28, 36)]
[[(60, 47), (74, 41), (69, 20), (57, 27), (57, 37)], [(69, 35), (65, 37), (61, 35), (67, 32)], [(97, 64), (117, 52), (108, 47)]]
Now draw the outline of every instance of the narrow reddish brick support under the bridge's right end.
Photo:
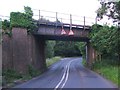
[(86, 44), (86, 64), (87, 64), (87, 67), (91, 68), (92, 63), (94, 62), (95, 58), (96, 58), (96, 52), (92, 48), (90, 42), (87, 42), (87, 44)]

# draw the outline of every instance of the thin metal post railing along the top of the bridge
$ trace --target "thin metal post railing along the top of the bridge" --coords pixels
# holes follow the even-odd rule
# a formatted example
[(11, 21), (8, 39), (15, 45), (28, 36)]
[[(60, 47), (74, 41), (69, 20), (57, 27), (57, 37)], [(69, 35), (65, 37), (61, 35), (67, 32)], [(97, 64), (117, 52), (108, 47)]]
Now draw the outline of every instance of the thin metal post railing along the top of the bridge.
[(62, 23), (62, 24), (69, 24), (70, 27), (73, 25), (83, 25), (91, 26), (95, 24), (96, 19), (90, 18), (86, 16), (78, 16), (66, 13), (59, 13), (59, 12), (51, 12), (45, 10), (36, 10), (33, 9), (33, 18), (39, 20), (40, 23), (47, 23), (47, 22), (54, 22), (54, 23)]

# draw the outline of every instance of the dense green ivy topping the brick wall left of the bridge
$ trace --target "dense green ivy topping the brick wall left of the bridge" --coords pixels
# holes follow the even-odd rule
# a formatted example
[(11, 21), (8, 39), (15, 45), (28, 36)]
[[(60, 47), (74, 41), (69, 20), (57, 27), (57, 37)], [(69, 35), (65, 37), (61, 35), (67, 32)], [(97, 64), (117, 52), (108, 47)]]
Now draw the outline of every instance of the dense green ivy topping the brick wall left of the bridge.
[(26, 28), (28, 33), (32, 33), (37, 30), (37, 22), (32, 18), (33, 11), (30, 7), (24, 7), (24, 13), (21, 12), (11, 12), (10, 21), (2, 21), (3, 34), (12, 35), (13, 27)]

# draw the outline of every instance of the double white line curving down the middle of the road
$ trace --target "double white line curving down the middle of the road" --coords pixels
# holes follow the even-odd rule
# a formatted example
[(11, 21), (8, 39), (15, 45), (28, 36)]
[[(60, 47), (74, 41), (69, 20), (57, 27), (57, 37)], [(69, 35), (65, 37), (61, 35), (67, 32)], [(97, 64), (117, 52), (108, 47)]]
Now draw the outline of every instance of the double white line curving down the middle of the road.
[[(68, 80), (68, 76), (69, 76), (70, 64), (71, 64), (73, 61), (75, 61), (75, 60), (70, 61), (70, 62), (66, 65), (64, 74), (63, 74), (60, 82), (57, 84), (57, 86), (55, 87), (54, 90), (57, 90), (57, 88), (60, 88), (59, 86), (60, 86), (61, 83), (64, 81), (64, 79), (65, 79), (65, 81), (64, 81), (64, 83), (62, 84), (61, 89), (65, 86), (65, 84), (66, 84), (66, 82), (67, 82), (67, 80)], [(66, 73), (66, 72), (67, 72), (67, 73)], [(66, 76), (66, 77), (65, 77), (65, 76)]]

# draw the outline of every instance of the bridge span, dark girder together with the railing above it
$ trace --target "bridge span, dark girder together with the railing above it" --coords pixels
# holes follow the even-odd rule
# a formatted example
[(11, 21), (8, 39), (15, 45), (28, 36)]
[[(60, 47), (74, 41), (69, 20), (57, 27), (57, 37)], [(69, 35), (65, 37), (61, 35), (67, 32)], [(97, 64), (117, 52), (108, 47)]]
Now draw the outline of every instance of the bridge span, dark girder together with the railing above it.
[[(38, 12), (38, 11), (37, 11)], [(49, 16), (46, 16), (49, 15)], [(71, 14), (64, 14), (58, 12), (42, 11), (39, 10), (37, 17), (37, 22), (39, 29), (36, 33), (37, 36), (42, 36), (44, 39), (55, 39), (58, 40), (88, 40), (88, 35), (91, 30), (91, 24), (95, 19), (88, 24), (88, 18), (83, 16), (75, 16)], [(88, 20), (89, 21), (89, 20)], [(65, 34), (62, 34), (64, 29)], [(70, 30), (73, 32), (73, 35), (70, 35)]]

